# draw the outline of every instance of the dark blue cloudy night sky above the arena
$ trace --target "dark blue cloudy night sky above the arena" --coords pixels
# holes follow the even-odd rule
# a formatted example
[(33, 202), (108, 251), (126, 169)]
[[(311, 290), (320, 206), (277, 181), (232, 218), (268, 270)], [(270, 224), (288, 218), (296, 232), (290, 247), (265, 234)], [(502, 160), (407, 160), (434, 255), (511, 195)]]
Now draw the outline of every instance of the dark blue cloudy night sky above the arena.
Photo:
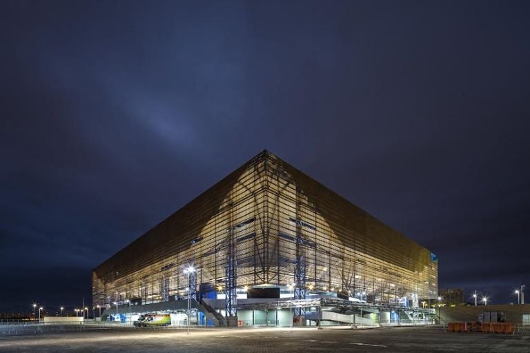
[(528, 1), (2, 1), (0, 311), (90, 272), (268, 149), (530, 301)]

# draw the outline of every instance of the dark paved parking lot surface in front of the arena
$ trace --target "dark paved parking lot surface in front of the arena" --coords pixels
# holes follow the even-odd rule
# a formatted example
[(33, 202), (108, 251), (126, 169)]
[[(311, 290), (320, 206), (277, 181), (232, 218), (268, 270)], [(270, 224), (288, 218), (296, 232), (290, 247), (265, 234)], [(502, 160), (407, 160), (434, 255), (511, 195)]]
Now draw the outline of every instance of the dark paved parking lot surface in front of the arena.
[(530, 353), (529, 336), (446, 332), (433, 327), (369, 330), (233, 328), (112, 330), (0, 338), (0, 352), (509, 352)]

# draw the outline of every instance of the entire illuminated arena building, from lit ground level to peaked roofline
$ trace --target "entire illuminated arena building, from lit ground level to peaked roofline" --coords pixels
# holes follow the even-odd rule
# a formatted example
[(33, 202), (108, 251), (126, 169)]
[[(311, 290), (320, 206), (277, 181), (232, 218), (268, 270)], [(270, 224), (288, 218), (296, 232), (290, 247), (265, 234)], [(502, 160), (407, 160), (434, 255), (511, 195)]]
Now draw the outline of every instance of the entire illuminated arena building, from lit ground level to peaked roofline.
[(92, 293), (112, 320), (188, 295), (197, 324), (419, 320), (438, 259), (263, 151), (101, 263)]

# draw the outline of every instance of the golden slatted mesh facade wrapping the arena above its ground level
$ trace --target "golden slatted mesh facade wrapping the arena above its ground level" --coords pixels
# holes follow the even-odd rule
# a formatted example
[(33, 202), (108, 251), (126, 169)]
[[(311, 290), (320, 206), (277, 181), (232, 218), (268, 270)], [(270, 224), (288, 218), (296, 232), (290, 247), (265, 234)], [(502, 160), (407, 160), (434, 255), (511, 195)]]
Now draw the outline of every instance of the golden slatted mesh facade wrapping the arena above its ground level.
[[(222, 286), (295, 283), (374, 303), (435, 298), (438, 263), (417, 243), (264, 151), (92, 272), (94, 305)], [(195, 282), (194, 281), (194, 282)]]

